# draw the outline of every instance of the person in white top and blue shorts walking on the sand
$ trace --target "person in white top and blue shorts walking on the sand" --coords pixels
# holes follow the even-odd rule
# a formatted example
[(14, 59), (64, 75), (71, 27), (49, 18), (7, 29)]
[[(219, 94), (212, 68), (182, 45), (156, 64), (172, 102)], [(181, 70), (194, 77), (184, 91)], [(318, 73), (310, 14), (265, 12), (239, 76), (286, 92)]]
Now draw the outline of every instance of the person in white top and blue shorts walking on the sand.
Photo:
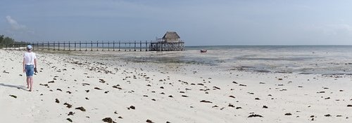
[(37, 72), (37, 57), (32, 52), (32, 45), (27, 45), (27, 52), (23, 55), (23, 73), (26, 74), (27, 88), (32, 92), (33, 74)]

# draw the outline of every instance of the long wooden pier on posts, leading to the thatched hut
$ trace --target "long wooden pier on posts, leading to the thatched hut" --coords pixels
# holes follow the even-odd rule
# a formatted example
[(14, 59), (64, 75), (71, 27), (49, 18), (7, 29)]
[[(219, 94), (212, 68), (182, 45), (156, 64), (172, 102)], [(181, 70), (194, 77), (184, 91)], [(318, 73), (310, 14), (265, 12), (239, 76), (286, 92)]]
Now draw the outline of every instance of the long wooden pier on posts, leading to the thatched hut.
[(33, 50), (68, 51), (183, 51), (184, 42), (165, 43), (156, 41), (61, 41), (1, 44), (5, 50), (24, 50), (32, 45)]

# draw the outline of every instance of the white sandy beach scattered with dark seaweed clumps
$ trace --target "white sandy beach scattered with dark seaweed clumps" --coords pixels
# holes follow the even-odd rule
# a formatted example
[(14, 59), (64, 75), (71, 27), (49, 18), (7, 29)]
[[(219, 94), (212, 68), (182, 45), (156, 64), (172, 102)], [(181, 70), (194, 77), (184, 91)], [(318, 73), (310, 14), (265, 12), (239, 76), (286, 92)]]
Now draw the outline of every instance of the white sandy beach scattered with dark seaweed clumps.
[(39, 73), (28, 92), (23, 52), (0, 50), (0, 122), (352, 122), (350, 76), (44, 52), (37, 58)]

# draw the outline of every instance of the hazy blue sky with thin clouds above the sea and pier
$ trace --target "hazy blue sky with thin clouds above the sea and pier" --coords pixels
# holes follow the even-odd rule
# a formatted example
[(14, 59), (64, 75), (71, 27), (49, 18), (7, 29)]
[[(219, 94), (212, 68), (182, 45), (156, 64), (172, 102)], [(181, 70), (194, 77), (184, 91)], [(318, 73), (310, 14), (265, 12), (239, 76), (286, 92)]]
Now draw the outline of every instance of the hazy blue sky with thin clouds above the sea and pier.
[(1, 0), (16, 41), (154, 41), (186, 45), (352, 45), (350, 0)]

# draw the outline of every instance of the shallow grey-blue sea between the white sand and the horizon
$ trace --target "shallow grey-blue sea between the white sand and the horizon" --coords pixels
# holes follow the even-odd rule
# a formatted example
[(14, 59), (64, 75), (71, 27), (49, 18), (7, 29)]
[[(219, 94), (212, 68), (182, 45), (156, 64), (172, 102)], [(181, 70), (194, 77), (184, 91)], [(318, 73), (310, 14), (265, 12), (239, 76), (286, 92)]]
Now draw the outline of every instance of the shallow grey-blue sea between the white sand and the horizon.
[(352, 75), (352, 45), (189, 46), (182, 52), (116, 52), (99, 56), (134, 62), (214, 66), (220, 71)]

